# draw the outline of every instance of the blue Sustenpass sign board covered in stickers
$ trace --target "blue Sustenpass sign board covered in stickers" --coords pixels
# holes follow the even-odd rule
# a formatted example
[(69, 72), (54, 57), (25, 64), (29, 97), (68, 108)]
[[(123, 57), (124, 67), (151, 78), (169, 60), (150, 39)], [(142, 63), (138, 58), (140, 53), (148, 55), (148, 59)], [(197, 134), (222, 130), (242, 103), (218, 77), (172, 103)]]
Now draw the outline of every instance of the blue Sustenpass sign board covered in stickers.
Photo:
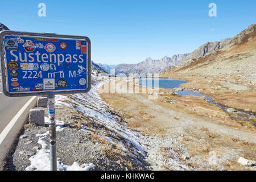
[(0, 35), (3, 91), (7, 96), (89, 91), (89, 38), (13, 31)]

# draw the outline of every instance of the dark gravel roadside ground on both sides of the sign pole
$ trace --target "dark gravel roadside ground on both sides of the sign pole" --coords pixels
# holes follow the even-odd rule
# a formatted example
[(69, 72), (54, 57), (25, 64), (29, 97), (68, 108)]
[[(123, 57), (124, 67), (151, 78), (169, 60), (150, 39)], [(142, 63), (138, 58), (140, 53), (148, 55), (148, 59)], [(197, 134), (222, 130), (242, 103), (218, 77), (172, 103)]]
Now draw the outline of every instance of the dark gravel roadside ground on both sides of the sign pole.
[[(30, 157), (42, 148), (38, 143), (40, 137), (36, 135), (46, 133), (48, 125), (36, 126), (28, 124), (26, 127), (20, 135), (14, 154), (7, 160), (5, 170), (25, 170), (30, 166)], [(98, 132), (108, 131), (104, 127), (97, 127), (97, 130)], [(60, 158), (61, 162), (69, 166), (74, 162), (79, 164), (93, 163), (96, 165), (94, 170), (147, 170), (148, 166), (150, 166), (144, 160), (144, 156), (130, 158), (125, 152), (114, 153), (115, 146), (105, 143), (104, 140), (94, 139), (92, 135), (92, 131), (84, 131), (74, 125), (64, 124), (63, 130), (56, 132), (57, 158)], [(49, 149), (49, 135), (42, 138), (42, 140), (47, 143), (46, 149)], [(102, 150), (102, 148), (106, 150)]]

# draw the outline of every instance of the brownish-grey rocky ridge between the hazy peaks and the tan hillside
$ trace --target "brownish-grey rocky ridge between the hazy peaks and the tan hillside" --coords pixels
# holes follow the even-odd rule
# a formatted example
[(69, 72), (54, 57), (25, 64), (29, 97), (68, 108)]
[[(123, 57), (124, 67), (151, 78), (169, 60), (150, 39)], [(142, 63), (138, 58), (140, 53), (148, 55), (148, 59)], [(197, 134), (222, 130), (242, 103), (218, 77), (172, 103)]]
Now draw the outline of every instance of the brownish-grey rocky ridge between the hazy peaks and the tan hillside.
[(225, 40), (220, 40), (220, 41), (216, 41), (216, 42), (207, 42), (203, 46), (200, 46), (195, 51), (190, 53), (187, 57), (185, 57), (185, 59), (183, 59), (178, 64), (176, 64), (175, 67), (167, 67), (167, 68), (163, 69), (162, 73), (164, 73), (170, 69), (174, 69), (177, 67), (184, 67), (185, 65), (191, 64), (195, 61), (195, 59), (205, 56), (205, 55), (208, 55), (209, 53), (212, 53), (212, 52), (216, 51), (217, 49), (220, 49), (220, 48), (226, 46), (231, 41), (232, 41), (232, 38), (227, 38)]

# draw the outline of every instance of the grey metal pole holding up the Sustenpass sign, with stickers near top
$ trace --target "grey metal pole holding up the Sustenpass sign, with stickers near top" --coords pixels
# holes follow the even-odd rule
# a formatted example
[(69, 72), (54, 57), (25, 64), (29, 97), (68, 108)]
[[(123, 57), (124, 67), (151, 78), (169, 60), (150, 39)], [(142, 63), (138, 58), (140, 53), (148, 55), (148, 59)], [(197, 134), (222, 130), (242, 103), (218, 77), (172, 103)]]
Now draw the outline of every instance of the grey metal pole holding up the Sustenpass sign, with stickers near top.
[(55, 96), (54, 96), (54, 94), (49, 94), (49, 96), (48, 96), (48, 113), (49, 113), (50, 166), (51, 166), (51, 171), (57, 171)]

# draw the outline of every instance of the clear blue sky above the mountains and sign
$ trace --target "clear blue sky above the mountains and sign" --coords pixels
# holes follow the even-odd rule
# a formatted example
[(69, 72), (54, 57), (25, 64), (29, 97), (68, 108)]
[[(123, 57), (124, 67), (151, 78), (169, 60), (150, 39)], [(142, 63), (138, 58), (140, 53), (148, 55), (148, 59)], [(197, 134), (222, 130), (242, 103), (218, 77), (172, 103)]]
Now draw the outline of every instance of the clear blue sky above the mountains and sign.
[[(40, 2), (46, 17), (38, 16)], [(212, 2), (216, 17), (208, 15)], [(10, 30), (88, 36), (96, 63), (130, 64), (236, 36), (256, 23), (255, 7), (255, 0), (0, 1), (0, 22)]]

